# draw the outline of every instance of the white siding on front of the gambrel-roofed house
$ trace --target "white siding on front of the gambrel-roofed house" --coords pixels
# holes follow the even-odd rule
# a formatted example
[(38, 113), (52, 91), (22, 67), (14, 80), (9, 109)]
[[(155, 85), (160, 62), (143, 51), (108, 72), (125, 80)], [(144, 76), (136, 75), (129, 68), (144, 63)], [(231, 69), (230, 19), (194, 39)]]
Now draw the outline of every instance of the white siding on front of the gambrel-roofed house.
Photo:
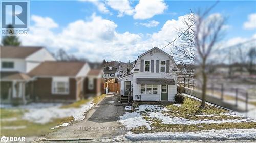
[[(161, 100), (161, 85), (158, 84), (157, 94), (141, 94), (140, 84), (137, 84), (137, 78), (164, 78), (174, 79), (175, 85), (168, 85), (168, 101), (174, 101), (174, 96), (177, 93), (177, 72), (172, 69), (177, 69), (176, 64), (172, 56), (164, 54), (159, 49), (153, 49), (151, 53), (146, 53), (138, 58), (138, 61), (133, 69), (139, 69), (139, 71), (133, 72), (133, 99), (135, 95), (141, 95), (142, 101), (160, 101)], [(145, 72), (144, 61), (150, 61), (150, 71)], [(165, 61), (165, 72), (160, 72), (160, 61)], [(123, 80), (123, 79), (122, 79)], [(122, 83), (122, 81), (121, 81)], [(121, 87), (123, 85), (121, 84)]]

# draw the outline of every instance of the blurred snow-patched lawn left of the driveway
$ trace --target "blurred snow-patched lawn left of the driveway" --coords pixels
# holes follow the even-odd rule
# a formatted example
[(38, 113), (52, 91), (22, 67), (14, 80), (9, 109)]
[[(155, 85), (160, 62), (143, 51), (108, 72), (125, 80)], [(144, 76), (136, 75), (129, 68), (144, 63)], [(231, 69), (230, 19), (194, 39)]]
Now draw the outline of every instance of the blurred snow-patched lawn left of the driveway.
[(71, 123), (76, 119), (82, 120), (84, 112), (104, 97), (103, 94), (68, 105), (32, 103), (25, 106), (0, 108), (1, 136), (40, 137), (57, 130), (58, 128), (51, 129), (55, 126)]

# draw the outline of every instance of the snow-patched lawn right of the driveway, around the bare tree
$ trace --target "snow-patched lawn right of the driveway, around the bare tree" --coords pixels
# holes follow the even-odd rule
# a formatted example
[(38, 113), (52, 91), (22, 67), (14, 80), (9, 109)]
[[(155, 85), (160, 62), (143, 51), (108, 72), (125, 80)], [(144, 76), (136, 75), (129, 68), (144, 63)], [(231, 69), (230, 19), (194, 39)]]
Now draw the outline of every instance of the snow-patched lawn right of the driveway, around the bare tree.
[(240, 116), (212, 104), (204, 108), (201, 102), (185, 97), (183, 104), (158, 103), (140, 104), (135, 112), (127, 112), (120, 117), (119, 122), (133, 133), (143, 132), (193, 132), (201, 130), (251, 129), (256, 127), (256, 121)]

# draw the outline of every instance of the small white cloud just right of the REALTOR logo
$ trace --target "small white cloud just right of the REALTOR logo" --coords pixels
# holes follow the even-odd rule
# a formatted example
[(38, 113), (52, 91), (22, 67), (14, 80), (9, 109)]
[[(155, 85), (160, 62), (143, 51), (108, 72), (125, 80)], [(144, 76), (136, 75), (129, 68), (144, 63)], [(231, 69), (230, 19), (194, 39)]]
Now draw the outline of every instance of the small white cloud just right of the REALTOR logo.
[(44, 27), (47, 29), (58, 27), (58, 24), (55, 23), (49, 17), (40, 17), (40, 16), (32, 15), (31, 20), (35, 22), (35, 27)]

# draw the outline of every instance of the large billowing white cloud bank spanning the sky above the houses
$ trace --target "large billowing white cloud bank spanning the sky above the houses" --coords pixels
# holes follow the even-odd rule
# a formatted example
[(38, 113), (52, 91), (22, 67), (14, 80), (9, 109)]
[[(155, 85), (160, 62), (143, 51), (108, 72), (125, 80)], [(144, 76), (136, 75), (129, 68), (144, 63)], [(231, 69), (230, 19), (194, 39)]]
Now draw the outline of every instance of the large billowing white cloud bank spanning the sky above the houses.
[[(120, 33), (116, 30), (118, 25), (114, 21), (95, 14), (89, 20), (71, 22), (55, 33), (48, 27), (37, 26), (44, 25), (44, 21), (37, 19), (45, 19), (45, 17), (36, 16), (36, 19), (31, 18), (35, 24), (31, 26), (29, 34), (20, 36), (20, 40), (23, 45), (45, 46), (52, 52), (63, 48), (69, 53), (92, 61), (106, 59), (127, 62), (135, 60), (138, 55), (155, 46), (164, 47), (168, 44), (166, 40), (172, 41), (177, 38), (177, 29), (185, 28), (183, 20), (186, 16), (168, 20), (160, 31), (145, 35), (129, 31)], [(49, 19), (55, 23), (53, 19)], [(226, 43), (233, 45), (244, 40), (246, 39), (230, 39)], [(178, 43), (178, 40), (176, 42)], [(170, 53), (171, 49), (166, 47), (164, 51)]]

